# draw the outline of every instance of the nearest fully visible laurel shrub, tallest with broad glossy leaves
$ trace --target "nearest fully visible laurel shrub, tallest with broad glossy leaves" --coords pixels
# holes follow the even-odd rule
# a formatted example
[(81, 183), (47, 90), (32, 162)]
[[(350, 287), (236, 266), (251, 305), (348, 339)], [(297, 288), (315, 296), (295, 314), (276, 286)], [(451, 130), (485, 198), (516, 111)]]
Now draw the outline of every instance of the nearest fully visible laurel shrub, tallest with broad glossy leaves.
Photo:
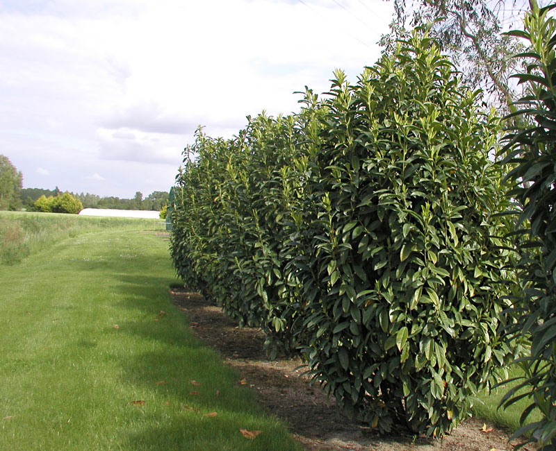
[(345, 411), (441, 436), (512, 357), (499, 121), (418, 32), (357, 85), (336, 71), (330, 94), (297, 273), (304, 355)]

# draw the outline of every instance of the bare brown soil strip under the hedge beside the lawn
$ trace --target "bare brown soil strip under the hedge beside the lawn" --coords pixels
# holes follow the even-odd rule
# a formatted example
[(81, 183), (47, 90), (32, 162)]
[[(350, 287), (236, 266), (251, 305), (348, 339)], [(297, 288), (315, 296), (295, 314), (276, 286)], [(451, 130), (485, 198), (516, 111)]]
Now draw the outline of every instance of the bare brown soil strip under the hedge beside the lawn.
[[(441, 440), (410, 434), (379, 436), (370, 427), (343, 416), (333, 398), (303, 375), (299, 358), (269, 361), (263, 350), (264, 334), (251, 327), (236, 327), (219, 307), (199, 293), (172, 288), (174, 303), (189, 317), (195, 335), (214, 348), (225, 364), (237, 368), (245, 383), (272, 415), (286, 422), (289, 430), (308, 451), (509, 451), (507, 431), (497, 429), (480, 418), (469, 418)], [(534, 451), (533, 445), (521, 450)]]

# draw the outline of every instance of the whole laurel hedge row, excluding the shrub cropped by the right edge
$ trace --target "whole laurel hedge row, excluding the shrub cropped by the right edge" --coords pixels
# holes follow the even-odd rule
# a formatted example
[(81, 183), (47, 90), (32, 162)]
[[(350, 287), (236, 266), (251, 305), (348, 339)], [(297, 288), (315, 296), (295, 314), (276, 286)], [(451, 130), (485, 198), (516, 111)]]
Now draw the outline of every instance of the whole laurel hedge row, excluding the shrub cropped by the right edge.
[(514, 354), (500, 123), (423, 31), (297, 114), (199, 130), (171, 253), (270, 357), (301, 352), (348, 414), (442, 436)]

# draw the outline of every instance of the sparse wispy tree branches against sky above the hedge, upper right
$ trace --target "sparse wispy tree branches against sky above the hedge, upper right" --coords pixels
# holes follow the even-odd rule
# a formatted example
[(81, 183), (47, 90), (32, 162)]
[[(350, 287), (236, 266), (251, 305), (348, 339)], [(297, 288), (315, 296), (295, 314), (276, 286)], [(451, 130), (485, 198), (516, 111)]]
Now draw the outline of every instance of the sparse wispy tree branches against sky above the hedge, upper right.
[(491, 94), (496, 108), (507, 111), (518, 95), (509, 78), (518, 67), (512, 56), (521, 46), (514, 36), (502, 33), (502, 26), (504, 19), (514, 20), (522, 12), (521, 2), (394, 0), (394, 6), (394, 34), (400, 34), (407, 22), (413, 26), (432, 23), (431, 35), (452, 56), (465, 83), (482, 88)]

